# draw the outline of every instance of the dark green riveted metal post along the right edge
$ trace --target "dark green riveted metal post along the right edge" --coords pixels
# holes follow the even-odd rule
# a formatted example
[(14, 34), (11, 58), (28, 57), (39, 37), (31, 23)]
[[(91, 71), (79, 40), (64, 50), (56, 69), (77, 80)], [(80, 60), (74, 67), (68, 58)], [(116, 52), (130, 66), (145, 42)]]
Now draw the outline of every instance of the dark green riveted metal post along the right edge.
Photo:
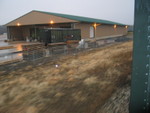
[(150, 113), (150, 0), (135, 0), (130, 113)]

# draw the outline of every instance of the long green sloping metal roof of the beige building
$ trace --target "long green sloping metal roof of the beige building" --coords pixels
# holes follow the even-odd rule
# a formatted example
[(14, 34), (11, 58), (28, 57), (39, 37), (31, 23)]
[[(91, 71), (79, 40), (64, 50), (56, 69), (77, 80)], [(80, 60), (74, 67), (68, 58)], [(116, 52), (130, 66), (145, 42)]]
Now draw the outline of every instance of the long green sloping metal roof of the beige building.
[(74, 16), (74, 15), (60, 14), (60, 13), (52, 13), (52, 12), (45, 12), (45, 11), (37, 11), (37, 10), (33, 10), (33, 11), (45, 13), (45, 14), (49, 14), (49, 15), (54, 15), (54, 16), (59, 16), (59, 17), (67, 18), (67, 19), (72, 19), (72, 20), (76, 20), (76, 21), (80, 21), (80, 22), (124, 25), (121, 23), (112, 22), (112, 21), (108, 21), (108, 20), (102, 20), (102, 19), (95, 19), (95, 18)]

